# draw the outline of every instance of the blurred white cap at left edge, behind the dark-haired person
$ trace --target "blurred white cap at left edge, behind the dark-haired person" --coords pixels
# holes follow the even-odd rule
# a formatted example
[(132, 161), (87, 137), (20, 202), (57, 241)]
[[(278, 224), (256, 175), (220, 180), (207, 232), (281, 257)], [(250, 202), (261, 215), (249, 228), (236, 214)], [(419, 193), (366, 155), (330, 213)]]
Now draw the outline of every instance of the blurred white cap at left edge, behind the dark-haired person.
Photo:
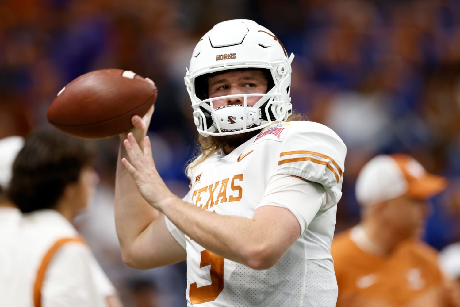
[(10, 136), (0, 139), (0, 187), (7, 188), (11, 180), (13, 162), (17, 153), (23, 148), (24, 139)]

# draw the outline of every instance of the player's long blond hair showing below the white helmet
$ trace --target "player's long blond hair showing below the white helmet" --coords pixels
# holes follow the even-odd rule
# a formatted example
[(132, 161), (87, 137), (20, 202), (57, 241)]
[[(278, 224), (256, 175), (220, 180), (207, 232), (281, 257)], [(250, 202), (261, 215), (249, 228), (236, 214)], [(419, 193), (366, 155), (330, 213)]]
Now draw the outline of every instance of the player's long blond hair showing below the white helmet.
[[(292, 113), (291, 116), (288, 117), (286, 122), (294, 122), (294, 121), (305, 121), (307, 120), (305, 116), (300, 113)], [(260, 130), (252, 132), (252, 136), (258, 134)], [(249, 136), (251, 135), (249, 134)], [(252, 137), (251, 136), (251, 137)], [(198, 166), (201, 162), (205, 161), (210, 156), (214, 155), (215, 153), (219, 152), (223, 148), (223, 144), (219, 141), (219, 137), (208, 136), (204, 137), (201, 134), (197, 140), (198, 143), (198, 150), (193, 158), (190, 159), (190, 163), (185, 168), (185, 174), (188, 173), (189, 170)]]

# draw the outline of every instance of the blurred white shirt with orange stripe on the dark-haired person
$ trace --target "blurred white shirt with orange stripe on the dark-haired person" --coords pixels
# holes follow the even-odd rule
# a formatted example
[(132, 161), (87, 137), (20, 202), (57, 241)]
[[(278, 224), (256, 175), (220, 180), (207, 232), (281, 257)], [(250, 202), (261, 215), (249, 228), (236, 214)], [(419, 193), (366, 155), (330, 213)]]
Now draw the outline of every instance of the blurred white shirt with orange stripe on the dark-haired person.
[[(51, 209), (23, 214), (6, 233), (11, 238), (9, 250), (1, 254), (7, 258), (10, 276), (0, 278), (0, 306), (33, 307), (44, 256), (59, 239), (77, 238), (78, 233)], [(106, 297), (115, 295), (115, 288), (86, 244), (68, 242), (51, 258), (40, 293), (42, 307), (106, 307)]]

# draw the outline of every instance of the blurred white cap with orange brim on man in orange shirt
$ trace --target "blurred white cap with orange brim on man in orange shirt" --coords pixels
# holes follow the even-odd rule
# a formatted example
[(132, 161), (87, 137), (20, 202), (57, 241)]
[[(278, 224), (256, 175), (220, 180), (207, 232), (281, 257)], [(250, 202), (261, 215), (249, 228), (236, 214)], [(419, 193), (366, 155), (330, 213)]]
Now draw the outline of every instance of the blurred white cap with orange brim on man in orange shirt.
[(356, 199), (362, 206), (407, 195), (428, 199), (446, 188), (444, 177), (429, 174), (413, 157), (405, 154), (379, 155), (358, 174)]

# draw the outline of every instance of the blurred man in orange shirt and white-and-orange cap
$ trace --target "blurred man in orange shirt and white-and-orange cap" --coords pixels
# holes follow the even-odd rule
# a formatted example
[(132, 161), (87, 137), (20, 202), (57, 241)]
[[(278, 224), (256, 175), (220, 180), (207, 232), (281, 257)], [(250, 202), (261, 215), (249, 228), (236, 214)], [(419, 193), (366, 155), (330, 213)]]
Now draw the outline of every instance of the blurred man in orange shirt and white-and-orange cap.
[(361, 170), (361, 222), (333, 240), (338, 307), (460, 306), (437, 252), (419, 239), (428, 199), (446, 180), (403, 154), (380, 155)]

